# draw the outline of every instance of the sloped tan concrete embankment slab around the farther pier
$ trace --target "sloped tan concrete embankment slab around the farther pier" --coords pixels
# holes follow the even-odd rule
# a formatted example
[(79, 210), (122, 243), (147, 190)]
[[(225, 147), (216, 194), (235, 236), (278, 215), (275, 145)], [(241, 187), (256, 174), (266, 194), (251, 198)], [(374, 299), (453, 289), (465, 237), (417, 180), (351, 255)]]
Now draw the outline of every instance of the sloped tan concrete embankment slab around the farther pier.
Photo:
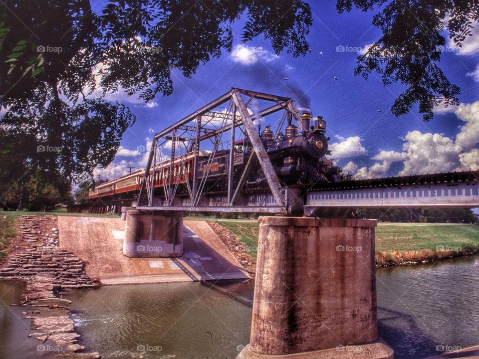
[[(86, 274), (103, 284), (249, 278), (206, 221), (185, 220), (184, 226), (183, 256), (129, 258), (122, 253), (125, 222), (121, 219), (58, 217), (61, 248), (84, 260)], [(151, 265), (152, 261), (156, 263)]]

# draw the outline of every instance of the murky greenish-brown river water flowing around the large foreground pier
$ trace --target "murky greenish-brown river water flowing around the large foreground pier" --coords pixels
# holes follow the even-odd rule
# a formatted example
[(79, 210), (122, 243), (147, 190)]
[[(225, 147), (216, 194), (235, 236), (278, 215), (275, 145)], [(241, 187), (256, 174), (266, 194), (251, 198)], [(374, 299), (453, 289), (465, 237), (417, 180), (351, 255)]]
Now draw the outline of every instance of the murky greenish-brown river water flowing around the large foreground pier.
[[(396, 359), (479, 344), (479, 256), (379, 268), (377, 292), (379, 334)], [(249, 342), (252, 295), (252, 282), (169, 283), (104, 286), (69, 299), (82, 344), (103, 358), (234, 359)], [(0, 357), (23, 358), (24, 320), (11, 308), (0, 308)], [(16, 335), (4, 341), (9, 331)]]

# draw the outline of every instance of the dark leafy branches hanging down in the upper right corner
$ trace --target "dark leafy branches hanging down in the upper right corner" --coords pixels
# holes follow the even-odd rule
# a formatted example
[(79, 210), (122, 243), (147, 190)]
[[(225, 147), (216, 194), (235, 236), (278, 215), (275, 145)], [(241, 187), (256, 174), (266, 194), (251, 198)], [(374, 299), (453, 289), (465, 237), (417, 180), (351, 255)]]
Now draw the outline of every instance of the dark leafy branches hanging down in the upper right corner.
[(408, 88), (391, 108), (395, 116), (408, 113), (419, 104), (423, 119), (433, 118), (433, 108), (443, 102), (458, 104), (460, 88), (451, 84), (438, 62), (446, 45), (444, 30), (462, 46), (479, 20), (479, 1), (459, 0), (338, 0), (339, 13), (356, 7), (361, 11), (382, 9), (373, 17), (373, 25), (382, 36), (358, 56), (356, 74), (365, 78), (377, 72), (384, 85), (400, 82)]

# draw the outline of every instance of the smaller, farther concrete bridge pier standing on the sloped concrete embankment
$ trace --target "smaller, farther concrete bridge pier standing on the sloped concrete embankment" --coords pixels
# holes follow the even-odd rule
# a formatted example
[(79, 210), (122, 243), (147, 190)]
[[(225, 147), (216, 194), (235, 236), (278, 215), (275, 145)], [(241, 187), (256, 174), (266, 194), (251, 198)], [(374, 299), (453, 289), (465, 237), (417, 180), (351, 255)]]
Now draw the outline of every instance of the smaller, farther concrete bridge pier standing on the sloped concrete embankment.
[(123, 254), (127, 257), (183, 255), (183, 214), (127, 210)]

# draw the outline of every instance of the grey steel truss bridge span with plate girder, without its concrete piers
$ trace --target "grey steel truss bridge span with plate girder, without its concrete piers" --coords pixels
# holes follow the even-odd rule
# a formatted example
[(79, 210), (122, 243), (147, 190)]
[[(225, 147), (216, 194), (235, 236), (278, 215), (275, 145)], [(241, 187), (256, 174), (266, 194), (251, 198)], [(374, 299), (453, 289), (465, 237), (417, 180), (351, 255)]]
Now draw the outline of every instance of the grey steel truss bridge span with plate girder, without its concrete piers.
[[(137, 209), (315, 215), (325, 211), (337, 214), (357, 207), (479, 207), (479, 171), (349, 180), (306, 188), (283, 187), (256, 128), (258, 122), (268, 124), (272, 114), (276, 114), (271, 126), (275, 135), (285, 121), (294, 120), (300, 132), (306, 130), (302, 128), (299, 108), (292, 99), (232, 88), (157, 133), (145, 169), (146, 174), (152, 175), (143, 177)], [(252, 146), (242, 171), (235, 171), (234, 151), (229, 151), (226, 189), (205, 190), (210, 165), (218, 151), (233, 148), (236, 141), (245, 137)], [(200, 154), (208, 154), (202, 176), (198, 175)], [(158, 166), (173, 158), (176, 160), (171, 161), (169, 171)], [(254, 163), (259, 164), (266, 181), (261, 190), (245, 187)], [(175, 164), (186, 178), (182, 186), (173, 178)], [(193, 171), (191, 179), (188, 171)], [(165, 176), (169, 176), (167, 184), (155, 187), (155, 181)]]

